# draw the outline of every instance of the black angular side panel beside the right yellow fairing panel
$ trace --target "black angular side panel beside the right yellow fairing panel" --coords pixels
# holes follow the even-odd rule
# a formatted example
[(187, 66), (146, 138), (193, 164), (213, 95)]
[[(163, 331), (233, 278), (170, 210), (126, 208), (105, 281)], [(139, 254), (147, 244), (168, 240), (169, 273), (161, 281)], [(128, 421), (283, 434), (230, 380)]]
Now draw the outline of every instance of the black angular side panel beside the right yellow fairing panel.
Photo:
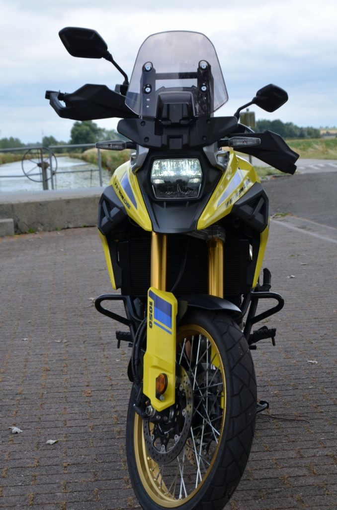
[(268, 197), (262, 185), (255, 183), (243, 197), (235, 202), (231, 214), (261, 233), (268, 225), (268, 205)]

